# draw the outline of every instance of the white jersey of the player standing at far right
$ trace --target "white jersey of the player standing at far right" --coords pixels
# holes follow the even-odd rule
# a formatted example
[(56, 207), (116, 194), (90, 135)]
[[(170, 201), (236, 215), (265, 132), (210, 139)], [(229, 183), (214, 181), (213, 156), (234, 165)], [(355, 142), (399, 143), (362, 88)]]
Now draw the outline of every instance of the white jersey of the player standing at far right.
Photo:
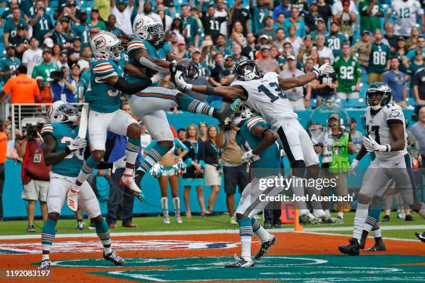
[[(375, 114), (373, 114), (375, 113)], [(373, 114), (373, 115), (372, 115)], [(392, 138), (390, 127), (388, 123), (401, 122), (404, 129), (404, 149), (402, 151), (390, 151), (389, 153), (382, 153), (375, 151), (378, 160), (393, 160), (395, 158), (406, 155), (407, 150), (407, 133), (406, 133), (406, 120), (404, 119), (401, 107), (394, 103), (385, 105), (381, 110), (375, 112), (370, 106), (366, 108), (366, 132), (371, 135), (378, 144), (391, 144), (394, 139)]]

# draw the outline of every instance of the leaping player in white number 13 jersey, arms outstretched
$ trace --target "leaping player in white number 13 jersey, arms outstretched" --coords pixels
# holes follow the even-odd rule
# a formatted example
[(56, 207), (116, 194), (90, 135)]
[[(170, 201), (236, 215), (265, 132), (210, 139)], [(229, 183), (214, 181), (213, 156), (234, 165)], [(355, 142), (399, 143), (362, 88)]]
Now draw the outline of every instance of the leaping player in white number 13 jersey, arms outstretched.
[[(236, 65), (234, 74), (236, 80), (230, 87), (207, 87), (205, 85), (190, 85), (185, 81), (183, 71), (176, 71), (176, 83), (182, 89), (192, 89), (207, 95), (217, 95), (229, 100), (240, 98), (244, 105), (258, 112), (267, 124), (278, 133), (278, 142), (284, 149), (292, 167), (294, 178), (304, 178), (306, 166), (310, 172), (318, 172), (319, 157), (313, 148), (308, 133), (301, 126), (297, 114), (292, 110), (290, 101), (283, 93), (292, 87), (299, 87), (310, 83), (322, 74), (333, 73), (333, 67), (325, 64), (319, 69), (313, 69), (310, 74), (297, 78), (280, 78), (278, 74), (269, 72), (260, 73), (256, 62), (245, 60)], [(292, 187), (297, 196), (304, 195), (303, 182), (297, 180)], [(315, 188), (313, 189), (317, 192)], [(322, 205), (314, 205), (313, 214), (309, 212), (305, 203), (298, 203), (300, 222), (305, 224), (339, 223), (337, 218), (326, 214)]]

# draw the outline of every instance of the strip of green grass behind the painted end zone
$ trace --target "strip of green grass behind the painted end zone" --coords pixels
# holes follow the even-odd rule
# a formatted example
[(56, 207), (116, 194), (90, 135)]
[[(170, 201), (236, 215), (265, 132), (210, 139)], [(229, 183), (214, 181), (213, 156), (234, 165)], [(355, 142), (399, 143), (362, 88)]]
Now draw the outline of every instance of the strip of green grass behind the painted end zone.
[[(335, 216), (335, 215), (334, 215)], [(383, 214), (381, 214), (381, 217)], [(381, 223), (383, 226), (383, 237), (398, 239), (416, 239), (414, 232), (425, 231), (425, 221), (415, 213), (412, 213), (415, 221), (404, 221), (397, 219), (396, 213), (392, 212), (391, 221)], [(261, 216), (260, 216), (261, 217)], [(306, 230), (313, 228), (314, 232), (332, 233), (332, 234), (351, 234), (353, 226), (354, 212), (344, 214), (344, 224), (341, 225), (310, 225)], [(163, 232), (163, 231), (189, 231), (189, 230), (238, 230), (238, 225), (228, 223), (227, 215), (220, 216), (192, 216), (191, 219), (183, 218), (183, 223), (178, 224), (170, 216), (171, 224), (164, 224), (162, 216), (135, 217), (133, 223), (138, 224), (139, 228), (122, 228), (121, 221), (117, 222), (117, 228), (111, 232)], [(57, 234), (78, 234), (88, 233), (88, 219), (84, 220), (85, 229), (76, 229), (76, 220), (61, 219), (58, 222)], [(26, 232), (26, 221), (3, 221), (0, 222), (0, 235), (23, 235), (30, 234)], [(35, 221), (35, 234), (40, 234), (42, 221)], [(292, 224), (283, 225), (283, 228), (292, 229)], [(319, 229), (317, 229), (319, 228)], [(329, 229), (326, 229), (329, 228)], [(341, 230), (338, 230), (338, 229)], [(31, 233), (34, 234), (34, 233)]]

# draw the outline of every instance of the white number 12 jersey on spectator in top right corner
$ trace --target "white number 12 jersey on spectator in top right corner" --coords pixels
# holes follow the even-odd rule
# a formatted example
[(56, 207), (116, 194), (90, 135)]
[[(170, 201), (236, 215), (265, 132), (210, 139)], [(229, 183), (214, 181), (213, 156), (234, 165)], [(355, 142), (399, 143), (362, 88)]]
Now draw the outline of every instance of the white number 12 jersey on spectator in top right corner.
[(394, 12), (396, 15), (394, 35), (403, 36), (410, 36), (412, 27), (416, 26), (416, 14), (424, 14), (424, 10), (422, 10), (421, 4), (417, 0), (408, 0), (406, 2), (402, 0), (392, 1), (388, 12)]

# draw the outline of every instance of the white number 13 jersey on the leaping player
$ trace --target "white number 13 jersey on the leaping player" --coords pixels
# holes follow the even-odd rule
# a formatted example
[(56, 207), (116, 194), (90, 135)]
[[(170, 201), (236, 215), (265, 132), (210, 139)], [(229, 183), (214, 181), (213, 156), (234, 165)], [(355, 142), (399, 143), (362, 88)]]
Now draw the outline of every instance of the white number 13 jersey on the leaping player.
[(244, 104), (260, 113), (272, 128), (277, 129), (283, 119), (298, 118), (279, 87), (278, 74), (269, 72), (256, 80), (235, 80), (233, 85), (240, 85), (247, 91), (248, 99)]

